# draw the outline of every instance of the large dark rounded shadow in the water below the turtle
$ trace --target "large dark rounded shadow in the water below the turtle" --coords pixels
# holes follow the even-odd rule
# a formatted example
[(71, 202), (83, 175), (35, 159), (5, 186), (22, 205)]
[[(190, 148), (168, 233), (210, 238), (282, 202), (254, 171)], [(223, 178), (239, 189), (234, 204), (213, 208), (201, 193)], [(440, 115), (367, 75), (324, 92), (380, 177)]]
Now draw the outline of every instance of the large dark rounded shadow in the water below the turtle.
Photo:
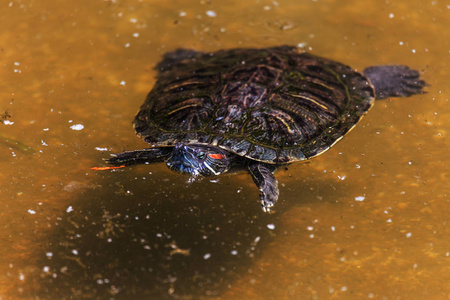
[[(180, 195), (167, 179), (129, 175), (112, 173), (104, 180), (115, 183), (71, 201), (41, 255), (44, 293), (217, 295), (272, 240), (267, 216), (225, 185)], [(229, 201), (218, 205), (219, 192)]]

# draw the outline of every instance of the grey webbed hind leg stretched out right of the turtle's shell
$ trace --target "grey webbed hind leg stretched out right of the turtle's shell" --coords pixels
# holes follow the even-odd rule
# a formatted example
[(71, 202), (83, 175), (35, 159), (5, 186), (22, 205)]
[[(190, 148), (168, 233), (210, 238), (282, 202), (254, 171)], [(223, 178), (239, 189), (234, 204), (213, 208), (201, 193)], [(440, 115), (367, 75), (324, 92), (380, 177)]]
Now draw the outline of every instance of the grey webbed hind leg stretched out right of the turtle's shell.
[(422, 88), (427, 85), (418, 71), (402, 65), (368, 67), (363, 74), (375, 87), (377, 100), (424, 93)]

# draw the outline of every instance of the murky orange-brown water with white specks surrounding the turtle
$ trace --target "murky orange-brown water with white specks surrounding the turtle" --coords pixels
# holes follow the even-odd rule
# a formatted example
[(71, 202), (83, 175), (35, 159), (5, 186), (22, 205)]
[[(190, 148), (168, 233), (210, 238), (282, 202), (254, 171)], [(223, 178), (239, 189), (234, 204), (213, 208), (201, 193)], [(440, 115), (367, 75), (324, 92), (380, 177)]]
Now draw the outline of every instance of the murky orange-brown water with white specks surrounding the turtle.
[[(450, 3), (16, 0), (0, 28), (1, 299), (450, 297)], [(431, 86), (279, 172), (273, 215), (247, 174), (90, 170), (145, 147), (164, 52), (280, 44)]]

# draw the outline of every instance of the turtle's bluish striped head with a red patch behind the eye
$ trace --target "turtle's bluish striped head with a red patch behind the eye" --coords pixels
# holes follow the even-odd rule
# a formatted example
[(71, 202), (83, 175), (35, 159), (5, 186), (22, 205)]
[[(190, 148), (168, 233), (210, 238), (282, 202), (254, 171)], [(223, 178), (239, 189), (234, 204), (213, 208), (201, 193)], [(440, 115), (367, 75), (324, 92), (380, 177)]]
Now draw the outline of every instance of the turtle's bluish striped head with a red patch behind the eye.
[(178, 143), (173, 147), (167, 166), (182, 174), (217, 176), (230, 169), (232, 157), (219, 147)]

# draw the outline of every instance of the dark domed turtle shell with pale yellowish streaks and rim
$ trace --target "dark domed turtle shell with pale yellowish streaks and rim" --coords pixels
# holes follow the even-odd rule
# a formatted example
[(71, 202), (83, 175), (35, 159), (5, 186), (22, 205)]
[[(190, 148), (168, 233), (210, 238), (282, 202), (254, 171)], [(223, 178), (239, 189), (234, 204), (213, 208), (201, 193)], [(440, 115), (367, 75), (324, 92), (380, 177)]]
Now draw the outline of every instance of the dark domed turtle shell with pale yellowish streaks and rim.
[(319, 155), (371, 108), (370, 81), (295, 47), (177, 50), (134, 120), (152, 147), (218, 146), (266, 163)]

